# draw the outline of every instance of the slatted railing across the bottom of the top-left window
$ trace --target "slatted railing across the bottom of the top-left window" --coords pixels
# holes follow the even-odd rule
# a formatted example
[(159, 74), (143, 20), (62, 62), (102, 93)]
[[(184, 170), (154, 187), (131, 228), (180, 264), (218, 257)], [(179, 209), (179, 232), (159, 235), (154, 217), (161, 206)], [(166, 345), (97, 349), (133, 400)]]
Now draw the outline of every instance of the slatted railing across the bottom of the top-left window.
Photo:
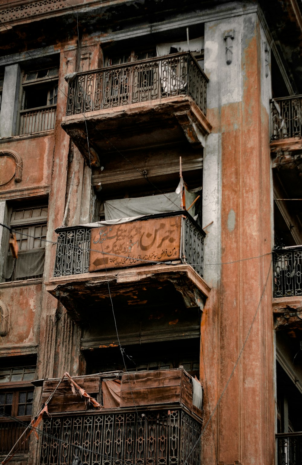
[(20, 135), (43, 133), (54, 128), (56, 105), (20, 112)]

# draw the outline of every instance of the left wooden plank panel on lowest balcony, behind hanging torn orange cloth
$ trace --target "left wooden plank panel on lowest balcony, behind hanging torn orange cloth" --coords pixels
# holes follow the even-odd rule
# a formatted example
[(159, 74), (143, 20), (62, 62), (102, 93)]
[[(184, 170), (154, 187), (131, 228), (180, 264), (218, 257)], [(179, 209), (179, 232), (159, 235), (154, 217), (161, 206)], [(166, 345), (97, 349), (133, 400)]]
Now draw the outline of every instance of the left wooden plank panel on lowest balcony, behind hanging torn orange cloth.
[[(87, 394), (95, 394), (99, 392), (100, 378), (99, 377), (85, 377), (75, 376), (74, 381), (85, 391)], [(51, 393), (55, 390), (59, 383), (59, 379), (49, 379), (43, 383), (42, 404), (46, 402)], [(73, 394), (71, 385), (67, 379), (63, 379), (55, 392), (53, 399), (48, 404), (48, 412), (78, 412), (87, 410), (87, 401), (79, 394)]]

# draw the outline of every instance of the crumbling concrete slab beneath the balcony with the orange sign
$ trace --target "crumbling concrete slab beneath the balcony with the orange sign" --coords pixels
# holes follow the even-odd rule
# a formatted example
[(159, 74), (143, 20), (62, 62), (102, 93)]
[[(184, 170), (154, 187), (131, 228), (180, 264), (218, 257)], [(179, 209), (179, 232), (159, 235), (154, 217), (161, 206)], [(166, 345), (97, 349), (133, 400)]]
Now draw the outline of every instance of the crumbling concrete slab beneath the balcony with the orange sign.
[(156, 306), (182, 299), (187, 308), (203, 308), (210, 287), (187, 264), (139, 266), (52, 278), (46, 290), (60, 299), (74, 321), (114, 306)]

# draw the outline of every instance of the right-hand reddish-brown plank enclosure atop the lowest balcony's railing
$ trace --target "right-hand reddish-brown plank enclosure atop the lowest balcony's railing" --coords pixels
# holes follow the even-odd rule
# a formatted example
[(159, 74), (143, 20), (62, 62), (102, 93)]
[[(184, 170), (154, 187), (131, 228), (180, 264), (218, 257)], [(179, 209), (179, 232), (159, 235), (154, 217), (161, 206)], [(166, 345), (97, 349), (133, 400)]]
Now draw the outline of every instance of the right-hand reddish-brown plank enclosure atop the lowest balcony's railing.
[(124, 373), (120, 407), (184, 404), (192, 408), (193, 386), (183, 369)]

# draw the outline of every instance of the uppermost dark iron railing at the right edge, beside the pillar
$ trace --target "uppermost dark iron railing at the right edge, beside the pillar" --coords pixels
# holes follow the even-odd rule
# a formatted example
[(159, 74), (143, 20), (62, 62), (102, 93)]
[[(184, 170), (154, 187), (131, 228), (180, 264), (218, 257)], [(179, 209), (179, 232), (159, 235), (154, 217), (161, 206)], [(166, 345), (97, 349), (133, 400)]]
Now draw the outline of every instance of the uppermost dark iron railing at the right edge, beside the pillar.
[(272, 140), (302, 137), (302, 95), (272, 100)]

